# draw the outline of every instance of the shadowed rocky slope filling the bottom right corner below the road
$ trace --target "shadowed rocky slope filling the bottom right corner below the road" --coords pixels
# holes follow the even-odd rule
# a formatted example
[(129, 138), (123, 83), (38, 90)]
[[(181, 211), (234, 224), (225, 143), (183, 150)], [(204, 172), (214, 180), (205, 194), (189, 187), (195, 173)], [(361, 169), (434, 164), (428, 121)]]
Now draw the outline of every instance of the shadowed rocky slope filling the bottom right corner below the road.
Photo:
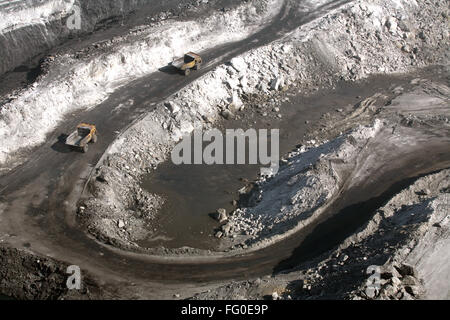
[(316, 259), (192, 298), (448, 299), (449, 174), (418, 179), (356, 234)]

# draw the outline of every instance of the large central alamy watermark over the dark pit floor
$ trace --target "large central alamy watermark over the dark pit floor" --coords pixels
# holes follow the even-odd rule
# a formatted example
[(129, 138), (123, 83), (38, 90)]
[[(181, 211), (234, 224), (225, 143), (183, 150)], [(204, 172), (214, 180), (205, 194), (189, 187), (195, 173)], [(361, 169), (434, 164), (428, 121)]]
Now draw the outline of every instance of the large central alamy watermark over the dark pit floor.
[[(278, 172), (280, 131), (271, 129), (227, 129), (225, 137), (218, 129), (195, 130), (172, 150), (172, 162), (181, 164), (259, 164), (261, 175)], [(270, 153), (269, 153), (270, 145)], [(247, 148), (248, 147), (248, 148)]]

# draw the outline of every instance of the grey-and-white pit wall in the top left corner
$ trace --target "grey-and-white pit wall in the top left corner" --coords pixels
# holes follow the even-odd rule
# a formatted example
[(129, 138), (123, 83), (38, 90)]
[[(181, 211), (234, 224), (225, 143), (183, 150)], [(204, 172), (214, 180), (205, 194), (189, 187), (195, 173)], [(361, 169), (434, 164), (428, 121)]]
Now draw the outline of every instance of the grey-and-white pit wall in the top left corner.
[[(26, 64), (68, 38), (94, 31), (98, 23), (123, 18), (151, 6), (152, 2), (161, 9), (168, 8), (161, 1), (152, 0), (22, 0), (4, 3), (0, 5), (0, 75)], [(192, 6), (198, 2), (181, 1), (179, 4)], [(75, 21), (72, 18), (75, 12), (79, 12), (79, 26), (74, 28), (69, 24), (68, 27), (69, 19)]]

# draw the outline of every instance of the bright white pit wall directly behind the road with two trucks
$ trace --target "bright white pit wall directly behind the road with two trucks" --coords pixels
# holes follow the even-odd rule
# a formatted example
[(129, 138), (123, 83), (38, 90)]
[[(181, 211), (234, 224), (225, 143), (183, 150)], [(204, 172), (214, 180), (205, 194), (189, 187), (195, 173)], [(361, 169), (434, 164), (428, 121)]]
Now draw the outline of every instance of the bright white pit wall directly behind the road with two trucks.
[(81, 50), (56, 57), (38, 81), (0, 106), (1, 169), (17, 166), (69, 112), (95, 107), (120, 86), (167, 65), (186, 47), (202, 51), (246, 38), (281, 5), (264, 0), (195, 21), (166, 20), (117, 36), (100, 45), (98, 54)]

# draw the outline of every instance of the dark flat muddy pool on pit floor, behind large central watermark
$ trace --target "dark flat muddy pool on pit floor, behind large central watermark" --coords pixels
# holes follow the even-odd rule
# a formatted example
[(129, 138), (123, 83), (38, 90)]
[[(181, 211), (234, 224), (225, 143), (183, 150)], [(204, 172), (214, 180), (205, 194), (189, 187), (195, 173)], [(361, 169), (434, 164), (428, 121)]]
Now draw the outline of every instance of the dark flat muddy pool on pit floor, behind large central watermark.
[[(267, 110), (267, 116), (256, 110), (239, 113), (238, 120), (224, 121), (219, 129), (279, 128), (280, 155), (291, 151), (325, 113), (354, 106), (375, 93), (387, 93), (396, 86), (406, 88), (410, 77), (377, 76), (358, 83), (341, 83), (335, 90), (322, 90), (304, 97), (292, 95), (280, 107), (280, 112)], [(280, 113), (281, 119), (276, 115)], [(306, 120), (308, 123), (305, 123)], [(146, 176), (144, 189), (164, 196), (167, 201), (156, 219), (156, 232), (140, 243), (145, 247), (178, 248), (190, 246), (215, 249), (213, 236), (219, 224), (209, 214), (218, 208), (233, 209), (245, 181), (255, 180), (260, 171), (256, 165), (174, 165), (170, 160)]]

